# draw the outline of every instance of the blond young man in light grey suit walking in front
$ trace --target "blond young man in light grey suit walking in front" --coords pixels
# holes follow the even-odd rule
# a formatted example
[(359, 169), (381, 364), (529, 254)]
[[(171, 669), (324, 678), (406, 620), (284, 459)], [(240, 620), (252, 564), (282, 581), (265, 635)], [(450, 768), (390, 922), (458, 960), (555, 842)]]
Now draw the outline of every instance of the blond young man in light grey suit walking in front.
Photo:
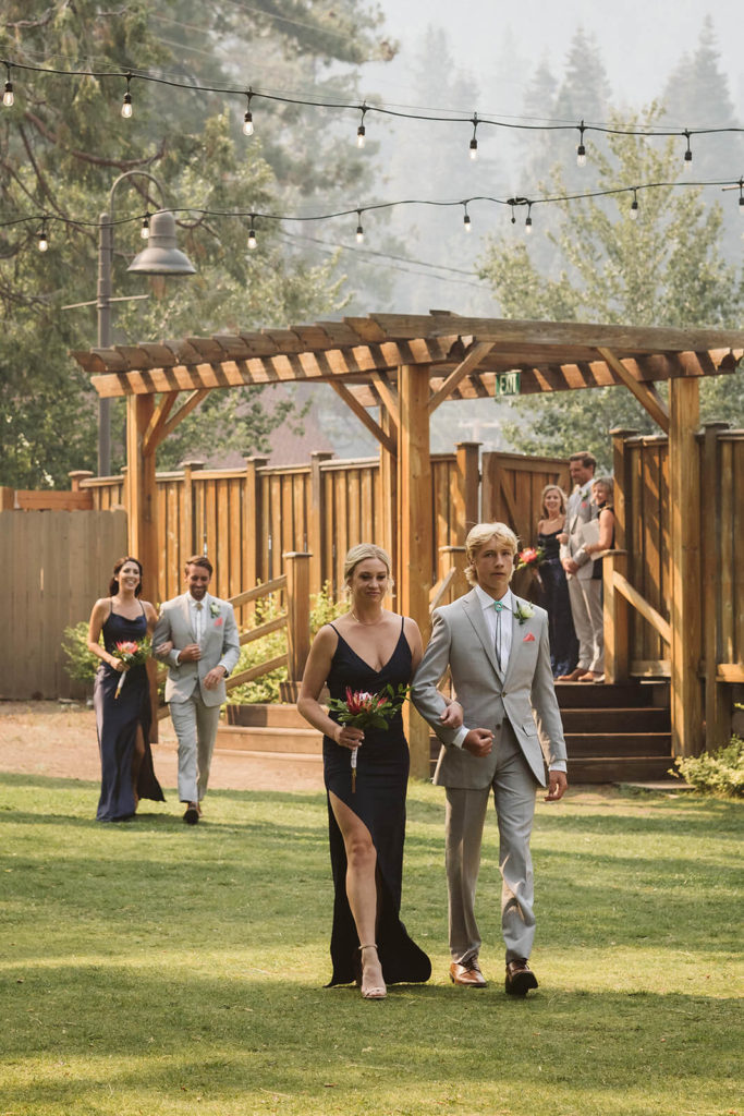
[[(493, 791), (506, 943), (506, 992), (538, 987), (529, 958), (534, 939), (530, 835), (538, 786), (558, 801), (568, 786), (566, 742), (548, 642), (548, 614), (509, 587), (516, 536), (505, 523), (479, 523), (467, 536), (467, 580), (474, 588), (434, 612), (432, 638), (414, 677), (412, 700), (442, 741), (434, 782), (446, 788), (450, 977), (484, 988), (479, 963), (475, 885), (483, 824)], [(460, 729), (442, 724), (437, 684), (447, 666), (463, 706)], [(537, 720), (535, 720), (537, 719)]]

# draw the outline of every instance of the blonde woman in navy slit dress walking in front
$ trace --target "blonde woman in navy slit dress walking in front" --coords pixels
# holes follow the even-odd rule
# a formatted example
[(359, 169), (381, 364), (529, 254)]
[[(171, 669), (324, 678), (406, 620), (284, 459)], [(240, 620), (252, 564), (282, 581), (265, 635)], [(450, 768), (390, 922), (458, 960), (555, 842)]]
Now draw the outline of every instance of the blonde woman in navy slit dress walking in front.
[[(410, 682), (423, 650), (415, 620), (384, 607), (393, 581), (390, 558), (381, 547), (352, 547), (344, 578), (349, 612), (318, 632), (297, 708), (323, 733), (335, 885), (329, 987), (356, 980), (365, 999), (381, 1000), (386, 984), (421, 983), (432, 972), (399, 918), (409, 762), (397, 695)], [(342, 712), (329, 714), (320, 704), (326, 684), (337, 706), (346, 699), (347, 708), (356, 709), (386, 693), (396, 695), (395, 712), (385, 718), (386, 728), (342, 723)], [(462, 721), (456, 702), (444, 715), (452, 724)]]

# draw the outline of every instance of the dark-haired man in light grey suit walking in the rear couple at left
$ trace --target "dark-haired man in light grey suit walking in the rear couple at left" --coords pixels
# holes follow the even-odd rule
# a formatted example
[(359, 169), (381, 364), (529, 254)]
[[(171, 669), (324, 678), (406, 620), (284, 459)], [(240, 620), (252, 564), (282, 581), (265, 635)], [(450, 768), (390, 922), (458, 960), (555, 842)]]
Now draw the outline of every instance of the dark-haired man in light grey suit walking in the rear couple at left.
[(189, 558), (185, 577), (186, 593), (161, 608), (153, 646), (170, 667), (165, 700), (178, 738), (178, 798), (186, 802), (184, 821), (193, 826), (202, 814), (220, 706), (226, 699), (224, 680), (240, 656), (240, 639), (232, 605), (206, 591), (209, 558)]

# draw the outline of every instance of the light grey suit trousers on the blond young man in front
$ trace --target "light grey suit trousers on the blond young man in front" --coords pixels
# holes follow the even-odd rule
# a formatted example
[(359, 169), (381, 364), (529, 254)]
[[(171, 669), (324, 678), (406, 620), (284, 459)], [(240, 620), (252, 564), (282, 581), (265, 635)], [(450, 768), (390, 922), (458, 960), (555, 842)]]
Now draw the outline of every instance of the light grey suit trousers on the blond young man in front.
[(493, 791), (499, 822), (501, 926), (506, 961), (529, 958), (534, 940), (534, 887), (530, 834), (538, 781), (504, 720), (494, 743), (496, 770), (491, 787), (447, 787), (446, 868), (450, 952), (453, 961), (477, 958), (481, 934), (475, 921), (475, 887), (489, 795)]

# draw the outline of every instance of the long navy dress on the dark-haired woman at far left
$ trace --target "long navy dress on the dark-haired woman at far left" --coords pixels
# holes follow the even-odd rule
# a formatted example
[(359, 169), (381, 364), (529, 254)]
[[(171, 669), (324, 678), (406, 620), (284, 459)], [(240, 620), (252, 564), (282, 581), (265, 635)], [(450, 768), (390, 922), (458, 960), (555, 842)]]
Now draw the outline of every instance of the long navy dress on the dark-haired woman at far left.
[[(144, 639), (147, 634), (144, 608), (142, 615), (133, 620), (118, 613), (109, 613), (102, 631), (106, 651), (110, 654), (116, 651), (117, 643)], [(132, 760), (138, 727), (142, 727), (145, 754), (139, 766), (137, 795), (139, 798), (152, 798), (156, 802), (165, 801), (161, 785), (155, 778), (153, 753), (149, 749), (152, 713), (147, 667), (144, 664), (131, 666), (116, 698), (119, 677), (118, 671), (102, 662), (93, 691), (100, 750), (100, 798), (96, 812), (98, 821), (124, 821), (125, 818), (131, 818), (136, 809), (132, 786)]]

